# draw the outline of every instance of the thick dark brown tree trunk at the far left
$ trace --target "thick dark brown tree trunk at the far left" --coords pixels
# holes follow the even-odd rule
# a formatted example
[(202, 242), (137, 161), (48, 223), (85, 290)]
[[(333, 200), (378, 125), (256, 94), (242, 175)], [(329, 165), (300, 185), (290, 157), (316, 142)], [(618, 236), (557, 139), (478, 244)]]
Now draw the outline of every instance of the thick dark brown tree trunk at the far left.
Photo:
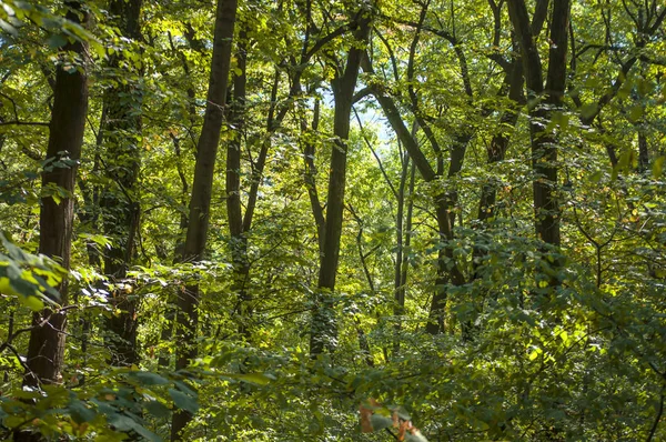
[[(67, 1), (69, 8), (67, 19), (85, 24), (88, 13), (81, 2)], [(60, 64), (56, 72), (53, 90), (53, 109), (51, 112), (47, 161), (56, 162), (62, 158), (78, 161), (81, 155), (85, 114), (88, 112), (88, 78), (85, 73), (85, 43), (80, 41), (68, 43), (62, 52), (70, 52), (78, 59), (75, 70)], [(68, 152), (63, 154), (62, 152)], [(56, 185), (73, 194), (77, 165), (46, 168), (42, 173), (42, 188)], [(72, 242), (72, 223), (74, 218), (73, 198), (63, 198), (59, 203), (51, 197), (42, 198), (40, 212), (40, 253), (57, 257), (63, 268), (70, 267), (70, 249)], [(60, 304), (68, 303), (68, 281), (64, 279), (57, 288), (60, 292)], [(29, 371), (24, 384), (36, 386), (40, 383), (59, 383), (63, 364), (64, 331), (67, 318), (64, 312), (46, 309), (34, 313), (34, 329), (30, 333), (27, 364)], [(20, 433), (17, 440), (29, 435)]]

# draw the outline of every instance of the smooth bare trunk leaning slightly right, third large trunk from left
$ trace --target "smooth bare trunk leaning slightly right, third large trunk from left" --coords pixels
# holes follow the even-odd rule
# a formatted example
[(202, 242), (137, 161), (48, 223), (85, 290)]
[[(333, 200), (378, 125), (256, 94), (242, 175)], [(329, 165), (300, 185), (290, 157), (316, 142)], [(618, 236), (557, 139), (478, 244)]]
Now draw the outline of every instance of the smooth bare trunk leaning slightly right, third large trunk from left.
[[(224, 102), (231, 67), (233, 30), (236, 17), (236, 0), (219, 0), (215, 12), (215, 31), (213, 40), (213, 59), (206, 97), (203, 128), (199, 138), (190, 215), (188, 218), (188, 235), (183, 251), (183, 260), (196, 262), (203, 258), (205, 250), (213, 172), (220, 143), (220, 131), (224, 119)], [(199, 285), (192, 283), (179, 293), (178, 299), (178, 351), (176, 369), (183, 370), (196, 358), (196, 327), (199, 324)], [(181, 440), (181, 432), (192, 415), (179, 411), (173, 415), (171, 440)]]

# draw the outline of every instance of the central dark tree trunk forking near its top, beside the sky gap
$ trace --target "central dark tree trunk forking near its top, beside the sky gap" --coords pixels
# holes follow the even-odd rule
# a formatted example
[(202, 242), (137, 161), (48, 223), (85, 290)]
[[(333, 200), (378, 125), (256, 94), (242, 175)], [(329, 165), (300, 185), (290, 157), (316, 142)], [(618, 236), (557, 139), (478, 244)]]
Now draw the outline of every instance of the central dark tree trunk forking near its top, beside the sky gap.
[[(354, 38), (366, 42), (370, 32), (370, 18), (362, 17)], [(346, 180), (346, 150), (350, 134), (350, 118), (354, 99), (354, 89), (359, 77), (361, 59), (365, 53), (359, 43), (349, 51), (346, 67), (342, 77), (333, 81), (335, 111), (333, 117), (333, 134), (335, 143), (331, 153), (331, 173), (326, 199), (326, 221), (324, 227), (324, 248), (320, 259), (317, 290), (320, 300), (313, 312), (310, 335), (310, 354), (317, 355), (329, 346), (335, 346), (336, 325), (333, 305), (327, 299), (335, 290), (335, 275), (340, 258), (340, 237), (342, 234), (342, 212), (344, 209), (344, 187)]]

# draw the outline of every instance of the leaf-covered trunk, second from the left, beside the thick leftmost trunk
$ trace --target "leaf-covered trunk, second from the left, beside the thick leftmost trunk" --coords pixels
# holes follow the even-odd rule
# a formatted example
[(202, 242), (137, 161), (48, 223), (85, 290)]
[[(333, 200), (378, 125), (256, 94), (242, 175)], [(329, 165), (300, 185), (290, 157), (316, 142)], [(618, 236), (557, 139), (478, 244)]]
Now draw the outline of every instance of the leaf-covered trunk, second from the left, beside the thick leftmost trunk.
[[(122, 36), (138, 41), (141, 39), (140, 14), (142, 0), (113, 0), (109, 11), (113, 14)], [(117, 76), (121, 71), (122, 54), (113, 56), (109, 68)], [(119, 83), (120, 84), (120, 83)], [(134, 81), (110, 88), (104, 94), (104, 121), (100, 135), (105, 148), (103, 164), (111, 188), (102, 193), (104, 234), (112, 239), (111, 248), (104, 254), (104, 273), (112, 283), (124, 284), (124, 279), (134, 253), (134, 242), (139, 230), (140, 207), (133, 199), (133, 190), (139, 172), (141, 147), (142, 91)], [(109, 302), (121, 313), (107, 320), (111, 363), (131, 366), (139, 361), (137, 348), (138, 301), (131, 291), (118, 287), (110, 293)]]

